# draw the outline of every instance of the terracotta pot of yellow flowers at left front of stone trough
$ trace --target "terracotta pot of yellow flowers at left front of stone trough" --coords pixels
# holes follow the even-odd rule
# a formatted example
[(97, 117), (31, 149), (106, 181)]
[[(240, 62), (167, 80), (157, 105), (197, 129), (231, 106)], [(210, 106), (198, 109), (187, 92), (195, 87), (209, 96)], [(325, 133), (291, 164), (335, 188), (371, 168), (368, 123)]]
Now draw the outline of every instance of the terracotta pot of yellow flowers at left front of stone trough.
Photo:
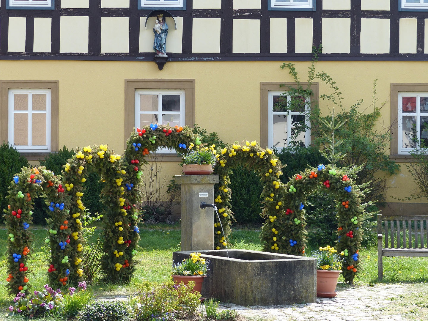
[(184, 259), (180, 263), (173, 262), (172, 279), (178, 285), (181, 282), (187, 284), (189, 281), (194, 281), (195, 286), (193, 291), (201, 292), (202, 282), (208, 273), (210, 261), (201, 258), (201, 253), (193, 252), (188, 259)]

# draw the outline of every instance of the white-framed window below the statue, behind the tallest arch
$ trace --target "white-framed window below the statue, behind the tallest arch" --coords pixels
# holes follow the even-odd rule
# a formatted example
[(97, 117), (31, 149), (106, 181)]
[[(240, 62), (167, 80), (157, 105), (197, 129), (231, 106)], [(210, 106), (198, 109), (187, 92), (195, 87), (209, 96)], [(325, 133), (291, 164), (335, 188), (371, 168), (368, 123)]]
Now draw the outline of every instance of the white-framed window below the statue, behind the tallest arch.
[(144, 89), (135, 91), (135, 128), (161, 124), (174, 127), (185, 124), (184, 90)]

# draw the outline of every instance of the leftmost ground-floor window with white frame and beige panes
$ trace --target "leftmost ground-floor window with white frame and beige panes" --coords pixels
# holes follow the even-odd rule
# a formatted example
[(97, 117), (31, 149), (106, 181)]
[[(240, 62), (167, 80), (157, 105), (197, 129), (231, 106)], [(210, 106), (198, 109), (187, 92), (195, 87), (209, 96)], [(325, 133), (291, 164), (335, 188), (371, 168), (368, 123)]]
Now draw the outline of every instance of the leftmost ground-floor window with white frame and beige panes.
[(51, 89), (9, 89), (8, 140), (19, 152), (51, 152)]

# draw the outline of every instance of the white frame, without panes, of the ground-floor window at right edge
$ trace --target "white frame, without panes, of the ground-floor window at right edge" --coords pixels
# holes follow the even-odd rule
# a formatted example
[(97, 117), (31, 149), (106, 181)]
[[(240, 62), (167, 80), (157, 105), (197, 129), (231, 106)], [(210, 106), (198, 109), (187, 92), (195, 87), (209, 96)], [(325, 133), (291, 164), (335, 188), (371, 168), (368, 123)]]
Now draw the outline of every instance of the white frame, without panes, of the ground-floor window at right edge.
[[(420, 97), (428, 97), (428, 92), (399, 92), (398, 93), (398, 154), (408, 155), (419, 147), (416, 145), (415, 148), (403, 147), (403, 116), (416, 116), (416, 136), (418, 140), (421, 138), (420, 133), (420, 122), (421, 116), (428, 116), (426, 113), (421, 113), (420, 110)], [(403, 97), (416, 97), (416, 112), (415, 113), (403, 113)]]

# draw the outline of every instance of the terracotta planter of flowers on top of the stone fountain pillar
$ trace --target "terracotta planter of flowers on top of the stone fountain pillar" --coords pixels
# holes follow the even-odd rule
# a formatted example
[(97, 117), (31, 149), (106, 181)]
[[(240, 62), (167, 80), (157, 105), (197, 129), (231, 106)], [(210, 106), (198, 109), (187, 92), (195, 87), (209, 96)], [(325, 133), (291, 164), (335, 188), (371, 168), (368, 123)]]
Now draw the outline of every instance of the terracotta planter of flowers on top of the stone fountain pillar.
[(190, 144), (189, 151), (182, 155), (181, 166), (186, 175), (211, 174), (219, 155), (216, 153), (215, 145), (209, 147), (196, 146), (193, 149)]

